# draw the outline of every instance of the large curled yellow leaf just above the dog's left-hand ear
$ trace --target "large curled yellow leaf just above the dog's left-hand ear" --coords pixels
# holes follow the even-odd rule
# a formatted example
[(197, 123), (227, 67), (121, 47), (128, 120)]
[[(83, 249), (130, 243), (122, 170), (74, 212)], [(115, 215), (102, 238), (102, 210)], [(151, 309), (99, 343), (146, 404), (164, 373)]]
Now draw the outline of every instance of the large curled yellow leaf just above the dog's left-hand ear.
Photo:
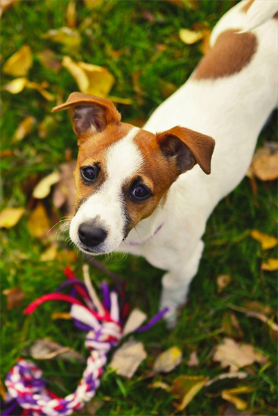
[(64, 56), (62, 66), (71, 73), (81, 92), (105, 98), (114, 84), (114, 76), (105, 67), (73, 62), (69, 56)]

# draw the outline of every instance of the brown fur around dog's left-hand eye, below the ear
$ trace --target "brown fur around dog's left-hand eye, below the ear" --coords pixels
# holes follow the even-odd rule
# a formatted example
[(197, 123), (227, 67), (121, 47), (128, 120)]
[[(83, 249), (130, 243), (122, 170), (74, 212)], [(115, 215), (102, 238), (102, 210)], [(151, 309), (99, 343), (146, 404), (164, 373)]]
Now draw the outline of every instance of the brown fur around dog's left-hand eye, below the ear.
[[(76, 180), (76, 211), (89, 196), (91, 196), (105, 181), (105, 150), (115, 141), (125, 137), (133, 126), (127, 123), (117, 123), (107, 125), (103, 132), (94, 133), (90, 135), (87, 133), (83, 137), (82, 143), (79, 146), (78, 159), (76, 170), (74, 172)], [(85, 135), (84, 135), (85, 136)], [(80, 168), (82, 166), (98, 164), (100, 171), (96, 181), (92, 184), (85, 184), (80, 175)]]

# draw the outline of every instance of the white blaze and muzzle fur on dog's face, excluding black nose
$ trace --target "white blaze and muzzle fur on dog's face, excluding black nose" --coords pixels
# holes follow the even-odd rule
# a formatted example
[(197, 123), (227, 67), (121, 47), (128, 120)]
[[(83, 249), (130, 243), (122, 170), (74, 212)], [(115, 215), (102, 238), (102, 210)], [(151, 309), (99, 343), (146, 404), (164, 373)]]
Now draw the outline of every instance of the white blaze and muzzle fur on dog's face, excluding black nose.
[(97, 246), (94, 254), (116, 250), (123, 240), (125, 216), (122, 187), (125, 181), (139, 170), (144, 160), (133, 141), (138, 131), (139, 128), (132, 128), (128, 135), (107, 148), (104, 162), (107, 179), (98, 191), (82, 203), (76, 216), (71, 220), (69, 230), (71, 240), (84, 252), (78, 237), (78, 227), (96, 217), (107, 231), (107, 238)]

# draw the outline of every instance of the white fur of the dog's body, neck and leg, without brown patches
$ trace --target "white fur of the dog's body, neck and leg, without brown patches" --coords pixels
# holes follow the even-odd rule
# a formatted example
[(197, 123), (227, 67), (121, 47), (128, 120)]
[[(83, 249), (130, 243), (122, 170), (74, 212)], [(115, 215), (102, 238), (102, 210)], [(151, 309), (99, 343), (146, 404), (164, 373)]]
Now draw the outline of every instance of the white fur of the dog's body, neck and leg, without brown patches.
[[(220, 19), (211, 44), (222, 31), (247, 26), (243, 4)], [(144, 126), (150, 132), (161, 132), (180, 125), (216, 140), (211, 175), (205, 175), (198, 165), (180, 175), (168, 192), (164, 209), (156, 209), (142, 220), (137, 231), (128, 235), (127, 247), (120, 248), (168, 270), (162, 281), (161, 306), (169, 307), (170, 324), (175, 322), (177, 306), (185, 302), (198, 270), (207, 218), (243, 179), (259, 132), (277, 107), (277, 20), (266, 21), (252, 33), (257, 36), (258, 48), (244, 69), (216, 80), (189, 78)], [(161, 224), (162, 228), (153, 235)]]

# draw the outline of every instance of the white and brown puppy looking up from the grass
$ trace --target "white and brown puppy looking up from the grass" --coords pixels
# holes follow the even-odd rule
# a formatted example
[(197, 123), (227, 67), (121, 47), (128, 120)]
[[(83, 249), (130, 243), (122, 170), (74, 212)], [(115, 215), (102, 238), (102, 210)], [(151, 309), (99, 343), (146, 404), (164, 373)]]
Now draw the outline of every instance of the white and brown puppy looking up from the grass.
[(71, 110), (78, 136), (71, 240), (167, 270), (169, 324), (198, 270), (207, 218), (243, 179), (277, 107), (277, 10), (275, 0), (229, 10), (192, 76), (142, 129), (122, 123), (110, 100), (79, 92), (53, 109)]

